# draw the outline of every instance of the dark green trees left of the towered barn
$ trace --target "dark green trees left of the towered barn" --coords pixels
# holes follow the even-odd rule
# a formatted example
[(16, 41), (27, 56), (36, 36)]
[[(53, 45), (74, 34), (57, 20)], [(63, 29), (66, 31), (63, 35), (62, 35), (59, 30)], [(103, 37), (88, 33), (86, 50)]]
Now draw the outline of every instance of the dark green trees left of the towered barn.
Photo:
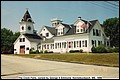
[(13, 43), (20, 35), (20, 32), (13, 32), (10, 29), (1, 29), (1, 53), (13, 53)]

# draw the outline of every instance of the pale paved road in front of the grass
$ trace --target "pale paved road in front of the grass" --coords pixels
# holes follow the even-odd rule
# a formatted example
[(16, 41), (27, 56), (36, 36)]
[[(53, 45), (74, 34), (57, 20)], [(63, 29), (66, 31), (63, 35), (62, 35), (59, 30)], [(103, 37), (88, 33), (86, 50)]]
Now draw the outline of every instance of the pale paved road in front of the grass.
[(119, 78), (119, 68), (38, 60), (1, 55), (1, 77), (19, 76), (102, 76)]

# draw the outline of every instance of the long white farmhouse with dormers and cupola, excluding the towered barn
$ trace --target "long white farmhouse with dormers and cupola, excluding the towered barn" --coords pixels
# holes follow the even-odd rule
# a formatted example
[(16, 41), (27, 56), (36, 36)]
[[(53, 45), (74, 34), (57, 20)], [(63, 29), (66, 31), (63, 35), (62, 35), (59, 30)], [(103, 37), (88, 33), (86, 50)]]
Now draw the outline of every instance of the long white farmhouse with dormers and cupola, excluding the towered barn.
[(78, 17), (72, 25), (62, 23), (57, 18), (51, 22), (52, 27), (44, 26), (39, 32), (44, 37), (39, 51), (65, 53), (82, 49), (84, 52), (91, 52), (92, 46), (110, 45), (98, 20), (86, 21)]

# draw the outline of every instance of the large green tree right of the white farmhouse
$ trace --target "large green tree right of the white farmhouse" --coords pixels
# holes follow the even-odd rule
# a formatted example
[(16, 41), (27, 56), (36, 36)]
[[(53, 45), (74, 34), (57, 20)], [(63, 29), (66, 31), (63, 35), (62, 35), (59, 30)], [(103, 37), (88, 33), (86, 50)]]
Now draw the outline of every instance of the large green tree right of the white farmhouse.
[(119, 47), (119, 18), (109, 18), (103, 22), (106, 36), (110, 36), (110, 46)]

